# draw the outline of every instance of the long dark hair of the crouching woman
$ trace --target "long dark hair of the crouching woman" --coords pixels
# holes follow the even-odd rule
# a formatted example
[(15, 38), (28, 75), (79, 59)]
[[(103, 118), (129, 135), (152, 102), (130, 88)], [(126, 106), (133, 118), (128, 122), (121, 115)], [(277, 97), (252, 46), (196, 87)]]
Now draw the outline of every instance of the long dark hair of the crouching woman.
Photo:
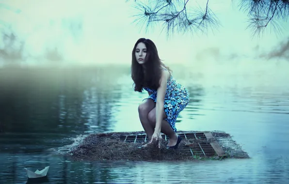
[[(139, 43), (146, 46), (145, 74), (141, 64), (136, 61), (135, 49)], [(156, 45), (150, 39), (140, 38), (132, 49), (131, 59), (131, 78), (134, 82), (134, 91), (142, 92), (144, 87), (157, 90), (160, 87), (161, 67), (165, 66), (159, 57)]]

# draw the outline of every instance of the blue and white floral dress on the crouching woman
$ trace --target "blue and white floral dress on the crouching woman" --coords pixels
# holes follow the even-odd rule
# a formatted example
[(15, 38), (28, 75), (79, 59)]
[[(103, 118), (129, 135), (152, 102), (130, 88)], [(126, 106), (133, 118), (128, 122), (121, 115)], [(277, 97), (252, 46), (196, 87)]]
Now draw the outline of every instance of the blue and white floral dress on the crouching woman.
[[(163, 70), (167, 69), (163, 68)], [(156, 90), (145, 87), (144, 90), (146, 90), (147, 92), (151, 92), (151, 95), (149, 95), (145, 99), (152, 99), (154, 102), (157, 102)], [(167, 89), (164, 98), (164, 111), (167, 115), (167, 118), (165, 118), (165, 120), (171, 125), (175, 132), (177, 132), (177, 116), (179, 112), (188, 105), (189, 101), (190, 93), (188, 92), (188, 90), (184, 86), (179, 84), (172, 75), (170, 75), (170, 78), (167, 81)]]

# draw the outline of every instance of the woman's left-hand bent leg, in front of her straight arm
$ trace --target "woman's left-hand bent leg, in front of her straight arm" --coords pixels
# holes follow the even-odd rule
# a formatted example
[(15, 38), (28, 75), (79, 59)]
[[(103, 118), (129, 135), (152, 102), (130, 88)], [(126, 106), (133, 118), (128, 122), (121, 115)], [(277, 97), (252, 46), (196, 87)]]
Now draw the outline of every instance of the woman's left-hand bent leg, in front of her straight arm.
[(148, 113), (156, 107), (156, 103), (152, 99), (145, 99), (142, 104), (139, 105), (139, 117), (143, 125), (144, 131), (147, 137), (150, 139), (155, 131), (151, 123), (148, 121)]

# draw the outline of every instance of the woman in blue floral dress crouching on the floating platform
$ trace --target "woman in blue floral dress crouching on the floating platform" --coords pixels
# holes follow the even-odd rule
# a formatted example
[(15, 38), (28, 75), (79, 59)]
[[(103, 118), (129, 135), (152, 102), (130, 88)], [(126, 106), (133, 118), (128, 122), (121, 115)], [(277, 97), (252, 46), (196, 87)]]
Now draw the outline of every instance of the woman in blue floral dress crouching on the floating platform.
[(160, 60), (155, 44), (140, 38), (132, 50), (131, 77), (134, 91), (143, 89), (149, 96), (139, 105), (139, 117), (147, 137), (159, 141), (161, 132), (169, 137), (168, 149), (177, 149), (181, 138), (175, 126), (177, 116), (189, 103), (189, 92), (172, 77)]

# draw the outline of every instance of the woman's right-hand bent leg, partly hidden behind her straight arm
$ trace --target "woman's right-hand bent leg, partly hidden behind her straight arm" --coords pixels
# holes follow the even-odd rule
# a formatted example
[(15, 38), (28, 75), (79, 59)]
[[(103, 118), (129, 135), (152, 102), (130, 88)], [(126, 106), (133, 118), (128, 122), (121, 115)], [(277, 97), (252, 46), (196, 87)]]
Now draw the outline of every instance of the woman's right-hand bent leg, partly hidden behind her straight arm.
[[(177, 144), (177, 133), (173, 130), (171, 125), (164, 120), (167, 118), (165, 112), (163, 112), (163, 120), (161, 122), (161, 132), (165, 135), (167, 135), (170, 139), (167, 144), (167, 146), (175, 146)], [(148, 113), (148, 120), (149, 123), (151, 123), (151, 126), (153, 128), (156, 127), (156, 108), (153, 108), (149, 113)]]

